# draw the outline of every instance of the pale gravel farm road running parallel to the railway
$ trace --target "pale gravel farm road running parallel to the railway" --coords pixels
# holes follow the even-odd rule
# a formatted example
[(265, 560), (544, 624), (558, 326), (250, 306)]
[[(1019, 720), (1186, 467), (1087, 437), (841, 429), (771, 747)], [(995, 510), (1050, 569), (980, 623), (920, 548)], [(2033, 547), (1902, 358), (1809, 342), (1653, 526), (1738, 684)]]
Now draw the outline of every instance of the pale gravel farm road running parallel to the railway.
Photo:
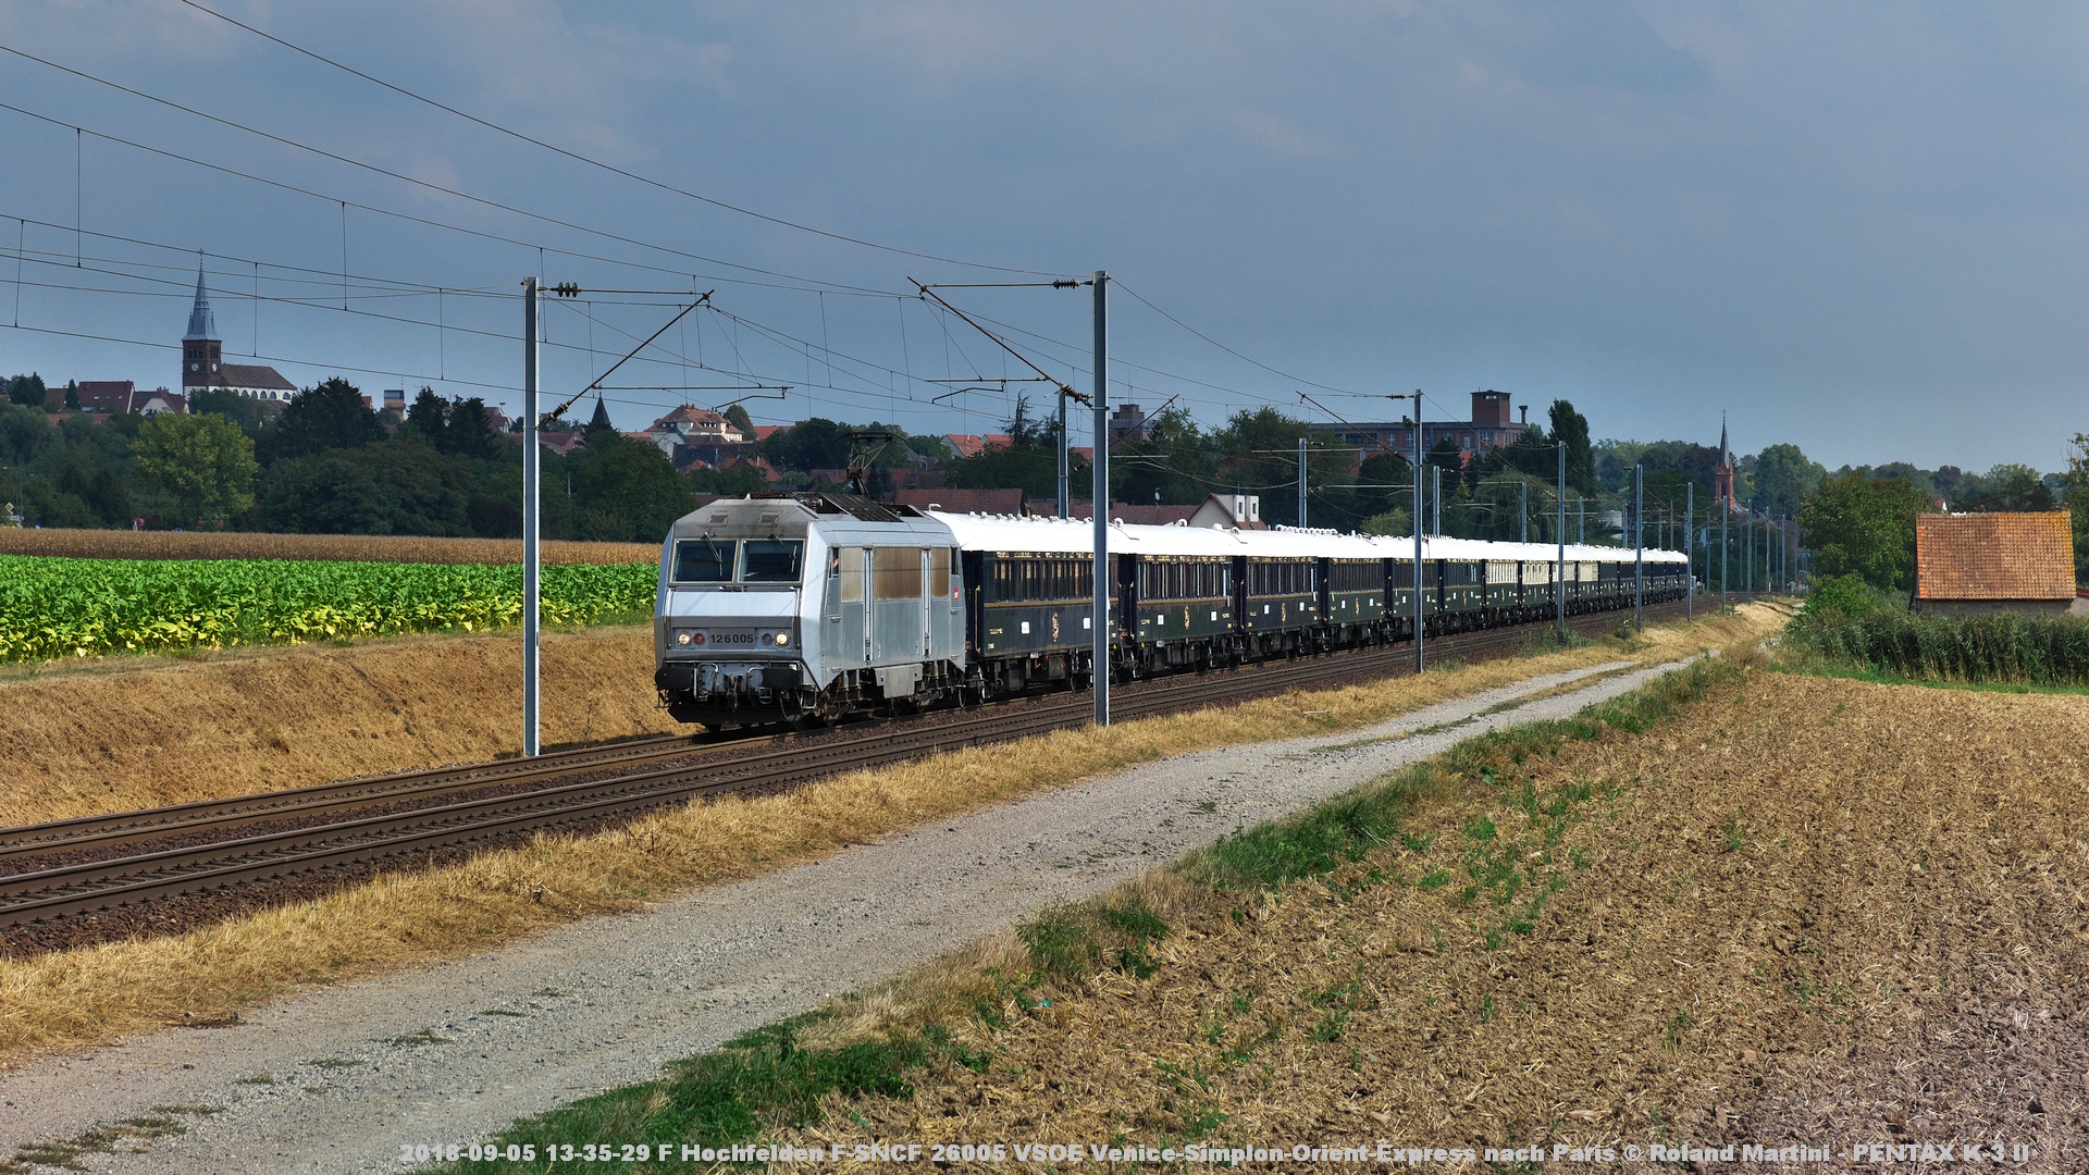
[[(1032, 912), (1105, 891), (1247, 824), (1481, 730), (1565, 717), (1675, 669), (1535, 677), (1368, 730), (1199, 751), (942, 820), (646, 912), (169, 1029), (0, 1075), (0, 1144), (67, 1139), (155, 1106), (186, 1133), (92, 1171), (401, 1171), (399, 1148), (646, 1081), (662, 1062), (896, 976)], [(1533, 698), (1592, 675), (1594, 684)], [(1421, 732), (1421, 734), (1416, 734)], [(10, 1150), (0, 1150), (0, 1156)]]

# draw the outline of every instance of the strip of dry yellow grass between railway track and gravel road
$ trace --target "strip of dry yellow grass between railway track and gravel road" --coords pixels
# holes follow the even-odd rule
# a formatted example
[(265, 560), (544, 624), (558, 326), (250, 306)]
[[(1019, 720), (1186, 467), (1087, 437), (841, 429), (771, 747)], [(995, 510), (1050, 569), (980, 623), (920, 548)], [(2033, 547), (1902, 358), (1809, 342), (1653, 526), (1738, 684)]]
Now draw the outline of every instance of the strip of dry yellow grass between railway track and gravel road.
[[(1636, 654), (1661, 659), (1736, 638), (1753, 640), (1767, 623), (1767, 615), (1751, 615), (1694, 627), (1650, 629)], [(441, 659), (447, 644), (430, 642), (430, 648), (435, 650), (430, 656)], [(489, 642), (489, 648), (508, 646)], [(1594, 644), (1446, 669), (1425, 677), (1285, 694), (1107, 730), (1055, 732), (1015, 746), (940, 755), (775, 797), (725, 797), (650, 815), (600, 836), (543, 836), (529, 849), (485, 853), (460, 866), (386, 874), (372, 884), (318, 901), (238, 916), (178, 937), (0, 960), (0, 1064), (13, 1064), (29, 1050), (79, 1047), (180, 1022), (184, 1012), (198, 1016), (230, 1012), (305, 985), (338, 983), (432, 955), (485, 949), (539, 926), (633, 909), (677, 891), (773, 872), (925, 820), (1067, 786), (1130, 763), (1226, 742), (1366, 725), (1443, 698), (1615, 661), (1619, 654), (1615, 644)], [(361, 661), (345, 659), (338, 669), (343, 682), (357, 677), (359, 665)], [(428, 671), (439, 667), (437, 661), (420, 665)], [(503, 684), (510, 679), (506, 673), (512, 661), (501, 663)], [(646, 673), (629, 677), (650, 684), (650, 663)], [(403, 686), (391, 682), (372, 688), (395, 692)], [(232, 694), (224, 705), (230, 700)], [(424, 705), (447, 705), (441, 700), (439, 684), (428, 686)], [(397, 728), (412, 734), (405, 717), (378, 717), (386, 711), (372, 709), (376, 713), (368, 721), (378, 730)], [(0, 700), (0, 713), (4, 711), (6, 705)], [(547, 705), (547, 713), (551, 711)], [(623, 709), (614, 713), (629, 717)], [(437, 715), (430, 715), (430, 721), (432, 717)], [(104, 730), (115, 732), (113, 725)], [(416, 730), (420, 730), (418, 719)], [(407, 746), (401, 734), (389, 734), (380, 742), (393, 751)], [(253, 744), (244, 753), (261, 761), (280, 755)], [(92, 780), (92, 776), (79, 778)], [(194, 776), (169, 771), (165, 778)]]

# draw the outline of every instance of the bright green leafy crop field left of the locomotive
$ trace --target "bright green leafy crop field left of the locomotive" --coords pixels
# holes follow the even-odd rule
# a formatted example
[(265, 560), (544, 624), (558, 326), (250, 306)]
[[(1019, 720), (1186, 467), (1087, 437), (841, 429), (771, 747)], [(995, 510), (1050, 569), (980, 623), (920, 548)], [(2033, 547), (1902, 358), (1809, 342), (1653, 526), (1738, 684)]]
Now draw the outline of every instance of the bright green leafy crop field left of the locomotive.
[[(656, 562), (543, 569), (543, 623), (641, 621)], [(522, 623), (522, 567), (0, 556), (0, 663)]]

